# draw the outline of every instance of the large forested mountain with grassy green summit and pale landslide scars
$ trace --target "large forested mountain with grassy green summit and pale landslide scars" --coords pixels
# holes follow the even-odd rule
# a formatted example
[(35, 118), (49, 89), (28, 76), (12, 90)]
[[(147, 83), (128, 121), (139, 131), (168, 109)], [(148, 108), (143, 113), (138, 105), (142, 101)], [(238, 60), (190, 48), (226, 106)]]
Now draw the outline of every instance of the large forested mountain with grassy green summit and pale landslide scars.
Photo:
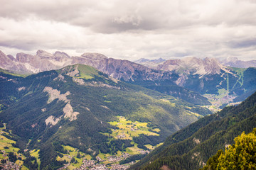
[(84, 157), (106, 161), (122, 152), (146, 152), (211, 113), (82, 64), (28, 77), (1, 70), (0, 89), (1, 123), (6, 123), (6, 132), (11, 130), (20, 152), (38, 149), (40, 169), (63, 166), (67, 146)]

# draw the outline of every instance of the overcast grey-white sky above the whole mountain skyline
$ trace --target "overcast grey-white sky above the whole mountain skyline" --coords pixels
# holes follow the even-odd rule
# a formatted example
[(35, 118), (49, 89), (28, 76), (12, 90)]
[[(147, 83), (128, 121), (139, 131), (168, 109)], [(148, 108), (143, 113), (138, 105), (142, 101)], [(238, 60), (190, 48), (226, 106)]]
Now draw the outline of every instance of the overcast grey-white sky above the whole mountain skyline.
[(256, 60), (256, 0), (0, 0), (0, 50)]

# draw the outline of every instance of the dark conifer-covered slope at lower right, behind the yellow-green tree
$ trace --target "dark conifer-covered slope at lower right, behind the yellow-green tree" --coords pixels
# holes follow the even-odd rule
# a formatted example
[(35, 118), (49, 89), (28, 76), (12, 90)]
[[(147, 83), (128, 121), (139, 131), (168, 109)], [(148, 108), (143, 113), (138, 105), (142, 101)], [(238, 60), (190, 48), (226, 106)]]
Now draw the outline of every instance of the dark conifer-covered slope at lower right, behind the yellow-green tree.
[(256, 127), (256, 93), (238, 106), (224, 108), (174, 133), (130, 169), (199, 169), (219, 149)]

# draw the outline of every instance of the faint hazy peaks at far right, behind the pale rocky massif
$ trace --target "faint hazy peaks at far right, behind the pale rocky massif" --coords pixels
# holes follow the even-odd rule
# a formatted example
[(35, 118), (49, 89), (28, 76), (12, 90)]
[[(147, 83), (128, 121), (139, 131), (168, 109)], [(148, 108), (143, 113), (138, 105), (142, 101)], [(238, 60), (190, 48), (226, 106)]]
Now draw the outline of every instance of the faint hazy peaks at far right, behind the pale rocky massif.
[(238, 57), (227, 57), (223, 60), (220, 59), (220, 63), (228, 67), (248, 68), (256, 67), (256, 60), (242, 61)]

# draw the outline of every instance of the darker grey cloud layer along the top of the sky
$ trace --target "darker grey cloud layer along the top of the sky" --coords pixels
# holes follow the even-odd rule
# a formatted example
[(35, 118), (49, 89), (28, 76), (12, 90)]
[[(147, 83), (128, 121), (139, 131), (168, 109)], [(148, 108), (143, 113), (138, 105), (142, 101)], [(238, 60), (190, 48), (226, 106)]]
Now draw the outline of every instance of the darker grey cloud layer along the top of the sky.
[(256, 24), (252, 21), (256, 17), (256, 4), (251, 1), (2, 1), (2, 17), (18, 20), (36, 17), (102, 33), (168, 30), (201, 24)]

